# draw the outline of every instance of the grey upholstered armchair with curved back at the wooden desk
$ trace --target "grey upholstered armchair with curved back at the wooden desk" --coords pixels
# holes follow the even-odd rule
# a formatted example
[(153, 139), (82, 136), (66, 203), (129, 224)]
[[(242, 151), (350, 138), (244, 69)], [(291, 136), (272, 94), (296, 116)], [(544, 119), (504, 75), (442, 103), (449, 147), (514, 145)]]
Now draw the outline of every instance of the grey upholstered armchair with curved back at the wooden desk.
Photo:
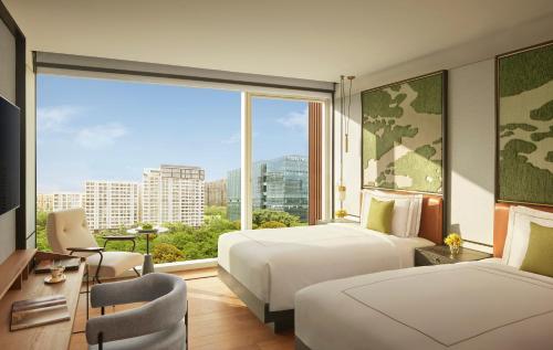
[(148, 301), (86, 322), (88, 349), (182, 350), (187, 348), (186, 283), (168, 274), (104, 283), (91, 290), (92, 307)]

